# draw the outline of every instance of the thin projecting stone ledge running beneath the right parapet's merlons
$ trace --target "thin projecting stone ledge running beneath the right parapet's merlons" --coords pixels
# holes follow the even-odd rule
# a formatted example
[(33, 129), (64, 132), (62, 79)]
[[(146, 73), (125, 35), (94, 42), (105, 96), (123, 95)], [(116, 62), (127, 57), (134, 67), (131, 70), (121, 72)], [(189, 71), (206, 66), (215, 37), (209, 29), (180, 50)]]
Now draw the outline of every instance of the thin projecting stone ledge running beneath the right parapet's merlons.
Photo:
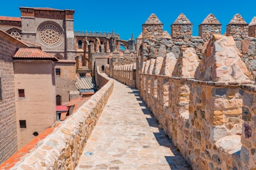
[[(248, 81), (248, 82), (213, 82), (213, 81), (202, 81), (202, 80), (195, 80), (193, 78), (179, 78), (179, 77), (171, 77), (167, 75), (155, 75), (155, 74), (147, 74), (147, 73), (140, 73), (142, 75), (150, 75), (150, 76), (156, 76), (156, 77), (161, 77), (161, 78), (168, 78), (172, 80), (179, 80), (179, 81), (189, 81), (191, 83), (197, 83), (199, 85), (204, 85), (204, 86), (215, 86), (215, 87), (240, 87), (240, 86), (249, 86), (249, 84), (253, 84), (253, 81)], [(253, 88), (253, 86), (249, 86), (250, 88)], [(249, 88), (247, 87), (247, 88)], [(242, 88), (242, 87), (241, 87)], [(245, 87), (244, 87), (245, 88)], [(254, 87), (254, 90), (256, 91), (256, 86)]]

